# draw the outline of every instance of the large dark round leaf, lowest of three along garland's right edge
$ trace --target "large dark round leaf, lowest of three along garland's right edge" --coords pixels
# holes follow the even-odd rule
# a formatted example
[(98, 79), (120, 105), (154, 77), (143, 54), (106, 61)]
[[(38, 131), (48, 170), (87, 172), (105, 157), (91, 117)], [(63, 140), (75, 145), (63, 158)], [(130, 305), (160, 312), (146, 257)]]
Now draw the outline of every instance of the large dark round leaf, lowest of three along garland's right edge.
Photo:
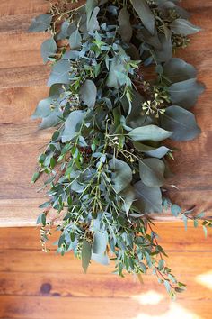
[(165, 130), (171, 130), (174, 141), (190, 141), (196, 138), (201, 130), (195, 116), (181, 106), (169, 106), (161, 116), (161, 124)]

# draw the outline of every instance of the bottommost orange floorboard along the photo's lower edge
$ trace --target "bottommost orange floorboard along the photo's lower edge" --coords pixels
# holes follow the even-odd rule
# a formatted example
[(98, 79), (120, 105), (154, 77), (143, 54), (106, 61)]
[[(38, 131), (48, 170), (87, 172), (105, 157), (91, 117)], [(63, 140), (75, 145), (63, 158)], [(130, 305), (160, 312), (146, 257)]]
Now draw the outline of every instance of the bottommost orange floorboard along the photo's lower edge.
[[(157, 297), (157, 295), (156, 295)], [(163, 299), (163, 297), (162, 297)], [(142, 296), (141, 296), (142, 300)], [(159, 295), (160, 300), (160, 295)], [(145, 307), (144, 307), (145, 305)], [(174, 318), (209, 319), (210, 300), (198, 300), (195, 303), (181, 300), (179, 305), (167, 300), (156, 306), (149, 305), (137, 297), (132, 298), (77, 298), (40, 296), (1, 296), (0, 318), (6, 319), (135, 319), (135, 318)], [(196, 313), (196, 314), (195, 314)], [(5, 316), (6, 315), (6, 316)], [(176, 316), (177, 315), (177, 316)]]

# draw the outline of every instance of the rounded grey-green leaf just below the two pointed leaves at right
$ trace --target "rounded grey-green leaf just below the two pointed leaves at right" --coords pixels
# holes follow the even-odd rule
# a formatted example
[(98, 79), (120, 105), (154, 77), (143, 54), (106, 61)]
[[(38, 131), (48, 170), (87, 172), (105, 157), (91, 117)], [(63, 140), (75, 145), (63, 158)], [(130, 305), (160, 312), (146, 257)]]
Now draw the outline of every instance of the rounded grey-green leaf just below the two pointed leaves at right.
[(165, 165), (162, 160), (147, 158), (139, 161), (139, 173), (142, 182), (148, 187), (162, 187)]

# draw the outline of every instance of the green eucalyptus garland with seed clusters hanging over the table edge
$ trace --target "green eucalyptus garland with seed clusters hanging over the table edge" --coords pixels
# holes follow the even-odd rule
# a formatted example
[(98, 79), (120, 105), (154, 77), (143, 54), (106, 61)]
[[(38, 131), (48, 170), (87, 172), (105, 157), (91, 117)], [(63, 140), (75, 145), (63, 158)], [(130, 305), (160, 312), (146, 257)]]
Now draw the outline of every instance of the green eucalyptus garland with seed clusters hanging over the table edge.
[(41, 55), (52, 64), (49, 97), (32, 116), (40, 129), (56, 128), (32, 178), (47, 176), (43, 250), (56, 226), (57, 251), (74, 251), (85, 272), (91, 260), (114, 260), (120, 276), (151, 271), (171, 296), (185, 285), (166, 266), (150, 213), (171, 209), (185, 225), (211, 227), (165, 193), (173, 159), (165, 140), (200, 133), (190, 108), (204, 87), (173, 58), (199, 32), (188, 18), (176, 0), (61, 0), (29, 29), (49, 32)]

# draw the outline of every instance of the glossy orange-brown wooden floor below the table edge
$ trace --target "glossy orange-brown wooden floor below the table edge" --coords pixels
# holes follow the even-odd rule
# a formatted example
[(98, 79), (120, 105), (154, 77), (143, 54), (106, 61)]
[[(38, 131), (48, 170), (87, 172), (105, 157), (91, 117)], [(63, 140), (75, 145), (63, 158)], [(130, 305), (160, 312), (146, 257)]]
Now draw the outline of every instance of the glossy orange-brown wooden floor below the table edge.
[[(113, 265), (92, 263), (84, 275), (73, 255), (40, 251), (39, 230), (4, 228), (0, 232), (1, 319), (211, 319), (211, 240), (202, 229), (181, 223), (157, 224), (175, 275), (188, 284), (172, 302), (152, 276), (112, 275)], [(53, 232), (51, 242), (57, 237)]]

